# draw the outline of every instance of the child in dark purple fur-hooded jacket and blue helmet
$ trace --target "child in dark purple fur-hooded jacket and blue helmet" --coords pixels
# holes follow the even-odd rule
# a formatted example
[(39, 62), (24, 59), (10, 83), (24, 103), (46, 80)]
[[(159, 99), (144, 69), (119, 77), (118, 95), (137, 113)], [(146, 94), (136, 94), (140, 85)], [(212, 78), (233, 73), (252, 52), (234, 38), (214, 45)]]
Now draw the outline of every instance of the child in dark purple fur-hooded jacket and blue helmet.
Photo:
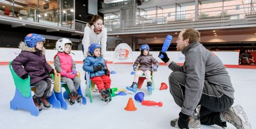
[(33, 102), (39, 111), (42, 110), (42, 104), (44, 107), (50, 107), (47, 98), (53, 94), (54, 87), (54, 81), (48, 75), (54, 74), (54, 69), (46, 62), (44, 42), (45, 38), (42, 35), (28, 34), (24, 42), (19, 44), (21, 53), (12, 61), (15, 73), (22, 79), (30, 76), (30, 85), (37, 87)]

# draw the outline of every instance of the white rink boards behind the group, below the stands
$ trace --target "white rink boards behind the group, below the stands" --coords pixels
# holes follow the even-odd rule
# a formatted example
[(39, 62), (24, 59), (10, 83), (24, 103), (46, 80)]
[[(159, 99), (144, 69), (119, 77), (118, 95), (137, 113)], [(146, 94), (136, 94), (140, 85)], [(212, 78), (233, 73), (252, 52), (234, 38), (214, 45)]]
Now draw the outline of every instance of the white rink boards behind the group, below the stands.
[[(16, 56), (19, 55), (20, 49), (15, 48), (0, 48), (0, 62), (8, 62), (12, 61)], [(74, 54), (71, 54), (74, 61), (83, 61), (83, 54), (82, 51), (73, 50), (71, 51)], [(53, 61), (53, 58), (55, 54), (57, 53), (56, 50), (46, 50), (46, 60), (47, 61)], [(156, 58), (159, 62), (161, 61), (160, 58), (158, 58), (158, 51), (150, 51), (151, 54), (153, 54), (153, 57)], [(220, 60), (224, 63), (224, 65), (238, 65), (238, 58), (239, 58), (239, 52), (233, 52), (233, 51), (221, 51), (221, 52), (214, 52)], [(184, 55), (181, 52), (177, 51), (167, 51), (168, 57), (172, 59), (174, 62), (177, 63), (183, 63), (184, 62)], [(135, 60), (140, 55), (139, 51), (133, 52), (133, 60)], [(108, 61), (113, 60), (113, 51), (107, 51), (106, 53), (106, 59)]]

